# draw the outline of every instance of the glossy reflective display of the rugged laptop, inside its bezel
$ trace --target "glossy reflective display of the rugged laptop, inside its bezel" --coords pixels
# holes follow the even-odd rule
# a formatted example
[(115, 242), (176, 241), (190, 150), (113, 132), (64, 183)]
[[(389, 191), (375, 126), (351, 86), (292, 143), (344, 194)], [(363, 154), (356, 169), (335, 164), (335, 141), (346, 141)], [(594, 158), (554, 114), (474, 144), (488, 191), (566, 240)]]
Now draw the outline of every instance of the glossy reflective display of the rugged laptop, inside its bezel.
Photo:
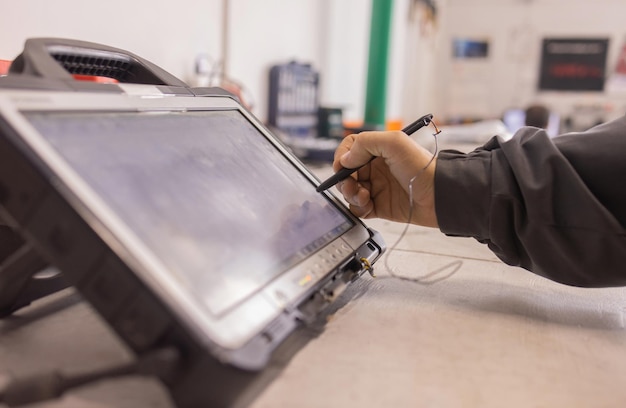
[(236, 110), (26, 117), (214, 316), (354, 225)]

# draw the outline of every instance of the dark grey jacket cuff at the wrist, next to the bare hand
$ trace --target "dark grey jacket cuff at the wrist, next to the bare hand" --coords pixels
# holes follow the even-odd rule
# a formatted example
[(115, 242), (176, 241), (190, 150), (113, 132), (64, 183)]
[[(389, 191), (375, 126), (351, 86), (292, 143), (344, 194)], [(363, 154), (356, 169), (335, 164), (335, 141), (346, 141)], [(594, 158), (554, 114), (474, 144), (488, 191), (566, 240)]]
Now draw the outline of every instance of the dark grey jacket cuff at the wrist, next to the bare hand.
[(446, 235), (489, 237), (491, 155), (488, 150), (470, 154), (443, 150), (435, 170), (435, 212)]

